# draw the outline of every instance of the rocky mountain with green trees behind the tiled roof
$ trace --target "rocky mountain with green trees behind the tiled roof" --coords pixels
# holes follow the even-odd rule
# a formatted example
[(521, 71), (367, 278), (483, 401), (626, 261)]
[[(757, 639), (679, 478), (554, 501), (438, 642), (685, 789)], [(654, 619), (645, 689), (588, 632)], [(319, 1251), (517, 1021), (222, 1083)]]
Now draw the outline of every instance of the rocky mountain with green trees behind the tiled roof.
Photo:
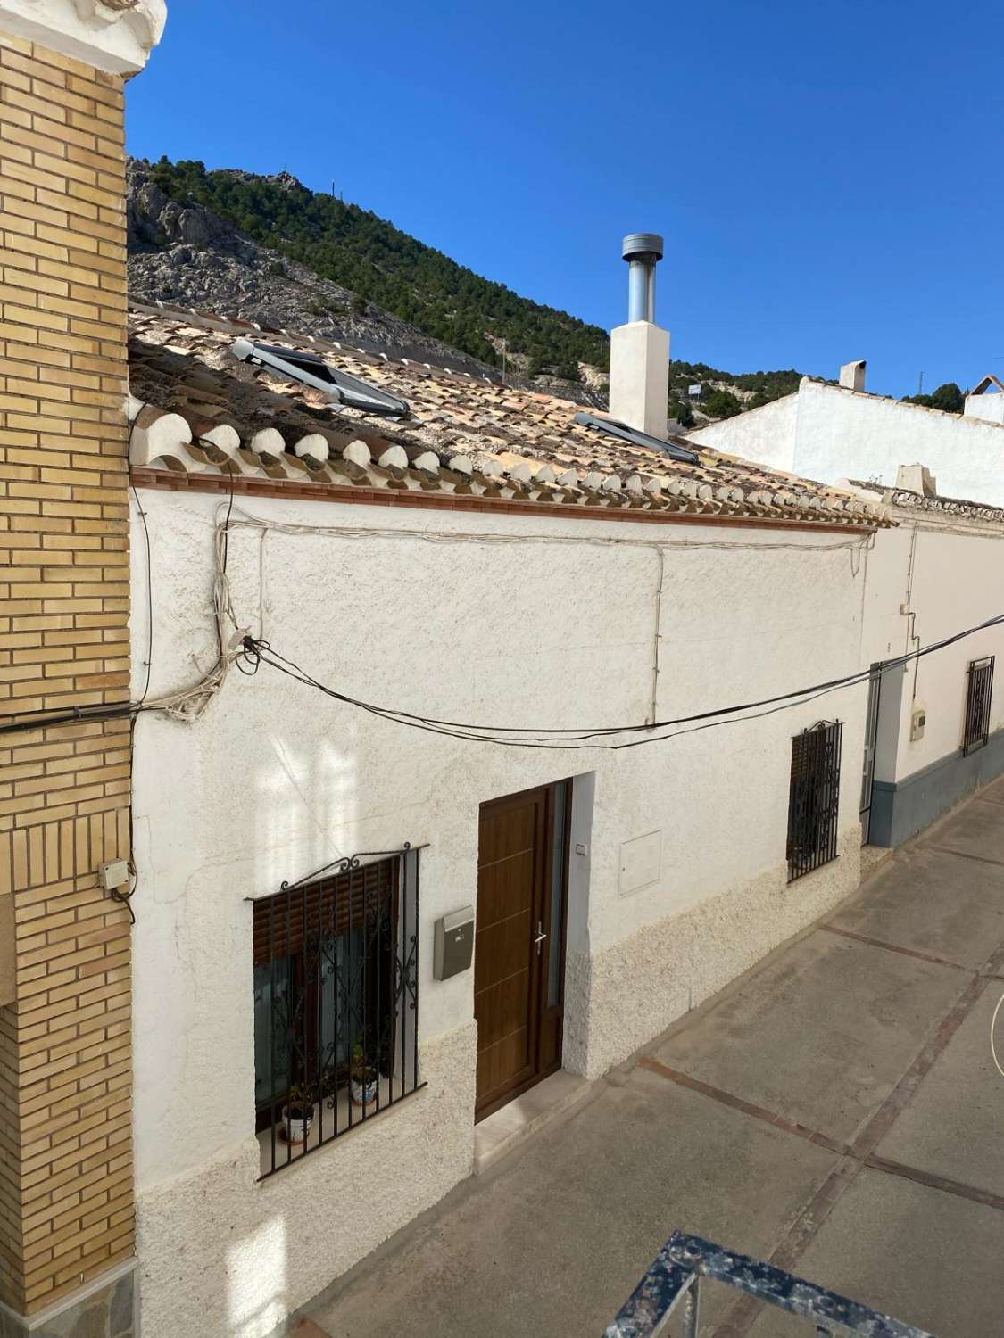
[[(134, 159), (127, 210), (134, 300), (210, 308), (494, 376), (505, 357), (507, 381), (605, 403), (605, 330), (519, 297), (288, 173)], [(673, 363), (669, 415), (688, 425), (738, 413), (797, 389), (799, 376)], [(688, 399), (693, 384), (699, 403)]]

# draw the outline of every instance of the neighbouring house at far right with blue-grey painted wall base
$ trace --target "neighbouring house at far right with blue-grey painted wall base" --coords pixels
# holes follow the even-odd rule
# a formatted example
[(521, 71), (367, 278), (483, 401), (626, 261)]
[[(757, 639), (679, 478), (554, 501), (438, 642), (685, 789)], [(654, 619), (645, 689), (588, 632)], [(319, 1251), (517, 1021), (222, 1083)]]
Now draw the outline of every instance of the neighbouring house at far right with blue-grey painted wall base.
[(902, 467), (894, 488), (847, 486), (897, 520), (867, 555), (863, 646), (877, 673), (861, 807), (865, 839), (898, 846), (1004, 771), (1004, 625), (881, 672), (1004, 613), (1004, 508), (940, 496), (921, 466)]

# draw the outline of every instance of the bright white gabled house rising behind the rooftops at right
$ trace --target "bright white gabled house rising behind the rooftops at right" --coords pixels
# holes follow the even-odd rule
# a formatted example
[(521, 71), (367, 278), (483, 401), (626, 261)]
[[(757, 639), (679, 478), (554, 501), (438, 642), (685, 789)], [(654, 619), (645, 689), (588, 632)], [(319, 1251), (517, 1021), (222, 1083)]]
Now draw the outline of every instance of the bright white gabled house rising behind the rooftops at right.
[(869, 393), (865, 363), (847, 363), (839, 385), (803, 376), (794, 395), (695, 428), (689, 440), (810, 479), (886, 487), (901, 464), (922, 460), (946, 495), (1004, 506), (1004, 393), (993, 376), (964, 413), (945, 413)]

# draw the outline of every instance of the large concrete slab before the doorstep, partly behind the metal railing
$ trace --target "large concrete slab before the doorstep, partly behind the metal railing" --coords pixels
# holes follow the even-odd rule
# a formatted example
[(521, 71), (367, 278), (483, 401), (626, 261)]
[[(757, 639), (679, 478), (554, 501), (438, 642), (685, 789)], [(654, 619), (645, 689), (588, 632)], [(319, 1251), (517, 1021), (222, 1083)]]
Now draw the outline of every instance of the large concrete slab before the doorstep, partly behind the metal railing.
[[(635, 1069), (461, 1185), (311, 1318), (332, 1338), (601, 1334), (675, 1228), (770, 1254), (835, 1160)], [(728, 1298), (708, 1301), (715, 1323)]]

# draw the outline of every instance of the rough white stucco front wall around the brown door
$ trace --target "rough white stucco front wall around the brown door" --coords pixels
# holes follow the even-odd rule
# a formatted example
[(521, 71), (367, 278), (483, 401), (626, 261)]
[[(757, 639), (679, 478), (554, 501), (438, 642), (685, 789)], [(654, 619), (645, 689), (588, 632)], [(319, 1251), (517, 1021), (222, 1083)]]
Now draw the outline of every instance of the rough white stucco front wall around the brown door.
[[(198, 494), (141, 496), (153, 549), (155, 697), (214, 658), (209, 599), (221, 508)], [(667, 545), (660, 717), (830, 678), (862, 657), (865, 562), (846, 547), (858, 542), (853, 534), (656, 531), (278, 500), (248, 511), (353, 535), (273, 530), (262, 541), (257, 530), (233, 531), (238, 621), (323, 681), (427, 716), (644, 721), (656, 538)], [(408, 530), (442, 538), (402, 535)], [(142, 690), (139, 535), (133, 554)], [(846, 721), (841, 859), (788, 887), (790, 741), (821, 716)], [(853, 890), (862, 733), (855, 689), (622, 752), (498, 748), (376, 720), (266, 666), (254, 678), (232, 674), (194, 725), (141, 716), (134, 981), (145, 1338), (261, 1338), (469, 1171), (473, 978), (432, 981), (431, 929), (475, 900), (479, 803), (570, 775), (590, 777), (580, 796), (594, 784), (588, 855), (573, 856), (581, 863), (569, 907), (565, 1062), (597, 1076)], [(660, 878), (621, 898), (621, 843), (651, 831), (661, 832)], [(419, 1020), (428, 1088), (260, 1184), (246, 898), (339, 855), (406, 840), (430, 843)], [(337, 1230), (317, 1232), (332, 1204)], [(256, 1279), (260, 1303), (248, 1301), (242, 1276)]]

